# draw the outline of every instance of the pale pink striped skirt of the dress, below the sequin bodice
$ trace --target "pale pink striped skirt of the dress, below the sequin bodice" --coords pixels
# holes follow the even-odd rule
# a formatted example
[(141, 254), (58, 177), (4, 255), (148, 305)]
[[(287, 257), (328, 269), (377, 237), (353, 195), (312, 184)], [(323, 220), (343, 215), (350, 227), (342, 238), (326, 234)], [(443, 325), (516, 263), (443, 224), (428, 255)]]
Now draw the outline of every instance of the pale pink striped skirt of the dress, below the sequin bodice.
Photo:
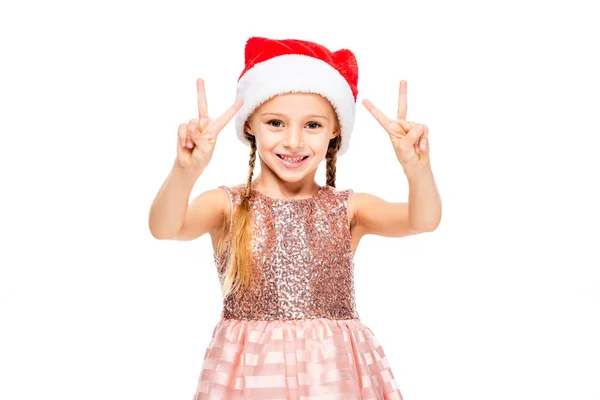
[(386, 356), (360, 319), (221, 318), (194, 400), (402, 400)]

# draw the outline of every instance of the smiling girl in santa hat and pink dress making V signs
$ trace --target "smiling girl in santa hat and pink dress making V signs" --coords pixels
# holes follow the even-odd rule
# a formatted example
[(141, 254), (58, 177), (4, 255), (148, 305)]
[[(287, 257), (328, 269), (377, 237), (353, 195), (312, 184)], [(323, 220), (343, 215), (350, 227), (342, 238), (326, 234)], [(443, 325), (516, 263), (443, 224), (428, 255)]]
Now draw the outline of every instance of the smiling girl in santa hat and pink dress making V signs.
[[(358, 315), (353, 255), (367, 234), (434, 230), (440, 199), (427, 127), (365, 107), (389, 133), (410, 185), (407, 203), (335, 187), (349, 146), (358, 68), (352, 52), (312, 42), (254, 37), (245, 48), (237, 99), (208, 117), (197, 81), (198, 119), (179, 126), (177, 159), (149, 224), (157, 239), (210, 233), (223, 311), (206, 350), (194, 400), (402, 399), (386, 356)], [(188, 204), (219, 132), (234, 117), (250, 147), (247, 181)], [(261, 171), (253, 179), (256, 160)], [(327, 184), (315, 181), (326, 160)]]

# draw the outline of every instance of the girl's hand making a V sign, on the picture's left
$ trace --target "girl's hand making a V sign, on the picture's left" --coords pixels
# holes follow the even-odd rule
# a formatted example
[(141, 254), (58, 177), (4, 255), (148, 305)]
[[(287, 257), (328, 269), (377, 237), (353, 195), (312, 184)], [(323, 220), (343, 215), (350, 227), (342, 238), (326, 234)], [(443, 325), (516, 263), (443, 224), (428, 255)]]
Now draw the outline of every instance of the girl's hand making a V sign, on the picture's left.
[(179, 125), (177, 141), (177, 164), (183, 169), (203, 170), (212, 158), (217, 136), (238, 112), (244, 101), (237, 99), (219, 118), (208, 117), (208, 105), (204, 81), (196, 81), (198, 89), (198, 119)]

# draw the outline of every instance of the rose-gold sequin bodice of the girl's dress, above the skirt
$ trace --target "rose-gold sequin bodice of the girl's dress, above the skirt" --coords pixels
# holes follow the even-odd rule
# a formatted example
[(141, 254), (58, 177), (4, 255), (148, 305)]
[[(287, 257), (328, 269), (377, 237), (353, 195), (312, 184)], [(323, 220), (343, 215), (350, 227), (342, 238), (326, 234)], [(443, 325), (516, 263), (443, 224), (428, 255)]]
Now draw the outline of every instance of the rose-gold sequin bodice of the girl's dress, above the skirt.
[[(221, 188), (237, 206), (245, 186)], [(223, 300), (223, 317), (359, 318), (348, 221), (351, 193), (322, 186), (309, 198), (278, 199), (253, 189), (251, 285)], [(219, 276), (227, 267), (230, 241), (231, 236), (225, 253), (215, 259)]]

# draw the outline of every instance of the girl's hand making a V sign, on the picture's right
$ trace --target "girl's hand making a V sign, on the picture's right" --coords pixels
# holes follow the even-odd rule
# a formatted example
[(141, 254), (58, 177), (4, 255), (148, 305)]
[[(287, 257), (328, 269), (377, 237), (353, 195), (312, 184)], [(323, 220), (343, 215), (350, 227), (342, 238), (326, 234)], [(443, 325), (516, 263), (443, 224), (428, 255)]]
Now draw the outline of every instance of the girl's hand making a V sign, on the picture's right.
[(398, 97), (398, 116), (391, 120), (369, 100), (363, 100), (364, 106), (390, 135), (396, 157), (405, 171), (429, 165), (429, 129), (426, 125), (406, 121), (406, 81), (400, 81)]

